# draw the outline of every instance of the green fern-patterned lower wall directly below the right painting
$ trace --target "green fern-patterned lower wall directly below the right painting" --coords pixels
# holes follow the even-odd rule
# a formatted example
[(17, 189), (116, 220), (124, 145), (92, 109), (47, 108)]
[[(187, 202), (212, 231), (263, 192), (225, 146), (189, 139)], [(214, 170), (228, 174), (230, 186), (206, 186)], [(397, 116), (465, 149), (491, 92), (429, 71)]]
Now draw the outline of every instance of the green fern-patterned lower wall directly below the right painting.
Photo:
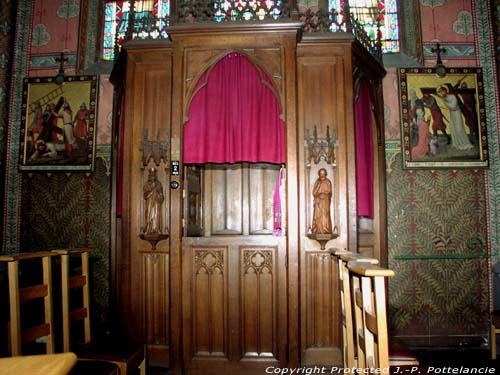
[(484, 172), (406, 171), (398, 154), (387, 185), (392, 335), (432, 345), (434, 337), (486, 334)]

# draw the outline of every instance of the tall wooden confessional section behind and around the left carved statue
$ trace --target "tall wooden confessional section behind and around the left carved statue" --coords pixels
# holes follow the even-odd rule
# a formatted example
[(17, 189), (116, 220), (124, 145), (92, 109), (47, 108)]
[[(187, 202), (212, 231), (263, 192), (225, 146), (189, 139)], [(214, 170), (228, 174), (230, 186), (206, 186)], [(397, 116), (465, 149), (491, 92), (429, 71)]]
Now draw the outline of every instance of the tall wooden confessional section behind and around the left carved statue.
[(121, 225), (116, 230), (120, 246), (115, 248), (114, 257), (115, 301), (123, 313), (123, 329), (134, 339), (144, 341), (149, 359), (163, 365), (169, 363), (171, 343), (170, 242), (160, 241), (150, 256), (152, 245), (140, 234), (145, 225), (144, 183), (149, 167), (157, 169), (163, 186), (161, 226), (171, 226), (166, 160), (157, 159), (157, 163), (154, 157), (143, 153), (145, 135), (150, 143), (170, 143), (171, 67), (170, 48), (127, 50), (125, 117), (119, 126), (119, 131), (125, 133), (121, 137), (123, 144), (119, 145), (123, 155), (123, 194), (119, 202), (122, 220), (117, 221)]

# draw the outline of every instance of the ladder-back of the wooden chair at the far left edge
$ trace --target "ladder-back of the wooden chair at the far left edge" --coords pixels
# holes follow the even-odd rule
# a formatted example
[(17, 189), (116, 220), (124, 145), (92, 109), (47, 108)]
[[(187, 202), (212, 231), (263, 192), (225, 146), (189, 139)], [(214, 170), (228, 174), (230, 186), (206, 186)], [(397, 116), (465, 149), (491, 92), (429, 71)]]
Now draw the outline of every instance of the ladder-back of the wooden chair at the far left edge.
[[(10, 353), (12, 356), (20, 356), (24, 344), (33, 343), (37, 339), (45, 338), (45, 352), (53, 354), (53, 316), (52, 316), (52, 273), (50, 258), (51, 252), (36, 252), (16, 255), (1, 255), (0, 262), (7, 262), (7, 273), (9, 279), (9, 302), (10, 302)], [(32, 261), (41, 263), (42, 281), (35, 285), (20, 288), (19, 286), (19, 262)], [(29, 301), (43, 298), (44, 317), (41, 324), (29, 328), (22, 328), (21, 305)]]

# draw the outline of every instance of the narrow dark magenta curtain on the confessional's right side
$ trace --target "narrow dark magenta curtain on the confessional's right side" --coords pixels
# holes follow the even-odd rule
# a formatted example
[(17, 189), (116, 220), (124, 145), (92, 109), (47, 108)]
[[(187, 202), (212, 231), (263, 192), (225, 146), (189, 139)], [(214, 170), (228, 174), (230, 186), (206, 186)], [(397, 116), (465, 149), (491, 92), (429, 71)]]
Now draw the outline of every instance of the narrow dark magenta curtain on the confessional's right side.
[(356, 128), (356, 185), (358, 216), (373, 219), (373, 114), (370, 89), (361, 81), (354, 108)]

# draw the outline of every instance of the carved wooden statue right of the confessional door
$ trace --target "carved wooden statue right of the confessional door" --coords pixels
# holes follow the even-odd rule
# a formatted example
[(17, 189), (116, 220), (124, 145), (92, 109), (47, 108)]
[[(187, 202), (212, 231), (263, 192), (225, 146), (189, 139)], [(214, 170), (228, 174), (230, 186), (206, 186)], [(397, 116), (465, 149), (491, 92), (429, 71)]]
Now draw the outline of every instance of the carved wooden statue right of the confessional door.
[(313, 188), (314, 208), (311, 232), (315, 234), (332, 233), (332, 219), (330, 216), (332, 182), (326, 176), (326, 169), (321, 168), (318, 171), (318, 179)]

